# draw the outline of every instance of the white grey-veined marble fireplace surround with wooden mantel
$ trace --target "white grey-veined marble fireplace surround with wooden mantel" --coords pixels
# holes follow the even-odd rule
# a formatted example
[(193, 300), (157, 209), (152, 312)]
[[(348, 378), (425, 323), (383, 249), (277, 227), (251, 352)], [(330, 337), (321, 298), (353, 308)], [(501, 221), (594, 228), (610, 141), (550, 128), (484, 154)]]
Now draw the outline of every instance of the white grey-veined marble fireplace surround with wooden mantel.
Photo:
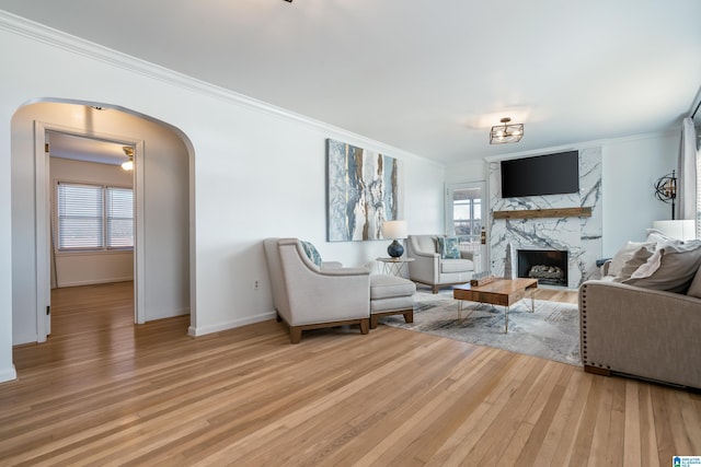
[(597, 276), (596, 260), (602, 255), (600, 147), (579, 150), (575, 194), (502, 198), (501, 161), (489, 162), (489, 176), (492, 273), (516, 277), (518, 249), (558, 249), (568, 253), (568, 289)]

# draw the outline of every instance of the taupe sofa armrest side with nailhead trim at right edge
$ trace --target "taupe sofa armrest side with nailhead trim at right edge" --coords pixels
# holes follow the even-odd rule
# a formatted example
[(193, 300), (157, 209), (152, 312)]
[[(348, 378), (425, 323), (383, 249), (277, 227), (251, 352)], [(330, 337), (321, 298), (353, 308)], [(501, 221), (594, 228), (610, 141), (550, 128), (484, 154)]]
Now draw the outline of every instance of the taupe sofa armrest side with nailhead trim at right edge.
[(701, 387), (701, 299), (591, 280), (579, 312), (585, 366)]

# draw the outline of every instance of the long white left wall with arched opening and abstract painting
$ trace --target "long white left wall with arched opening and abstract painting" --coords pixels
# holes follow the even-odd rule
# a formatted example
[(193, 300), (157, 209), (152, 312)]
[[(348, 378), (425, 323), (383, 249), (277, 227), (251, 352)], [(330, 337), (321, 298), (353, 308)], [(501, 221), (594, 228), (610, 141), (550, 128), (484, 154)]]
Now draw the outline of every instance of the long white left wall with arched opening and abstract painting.
[[(3, 22), (11, 24), (5, 27)], [(47, 38), (59, 40), (61, 46), (51, 46)], [(32, 140), (26, 132), (11, 135), (11, 120), (18, 109), (35, 100), (67, 98), (118, 106), (168, 122), (187, 137), (189, 184), (193, 187), (189, 230), (193, 238), (191, 258), (194, 260), (188, 264), (193, 335), (273, 317), (262, 248), (264, 237), (302, 237), (317, 244), (324, 258), (349, 266), (387, 255), (389, 242), (386, 241), (325, 242), (326, 138), (371, 148), (399, 159), (400, 189), (402, 196), (407, 194), (404, 217), (410, 229), (426, 232), (441, 229), (444, 167), (417, 155), (59, 33), (46, 32), (21, 20), (0, 16), (0, 58), (3, 62), (0, 166), (4, 167), (0, 176), (7, 182), (0, 184), (0, 381), (14, 377), (10, 331), (14, 323), (10, 311), (25, 306), (11, 299), (12, 265), (25, 261), (28, 254), (11, 247), (10, 224), (14, 210), (10, 208), (7, 187), (11, 152), (12, 160), (18, 160), (16, 144), (31, 144)], [(50, 74), (46, 70), (51, 70)], [(84, 108), (82, 112), (84, 114)], [(114, 132), (124, 135), (122, 130)], [(146, 148), (148, 152), (148, 141)], [(162, 176), (159, 171), (163, 167), (146, 168), (147, 178)], [(13, 166), (12, 183), (27, 183), (31, 172), (23, 164)], [(165, 188), (171, 194), (188, 190), (182, 186)], [(158, 190), (149, 191), (146, 199), (160, 196)], [(26, 214), (16, 213), (19, 220), (31, 219), (33, 207), (28, 209)], [(154, 219), (160, 222), (157, 214)], [(32, 276), (27, 271), (19, 272), (18, 280), (22, 282), (25, 281), (22, 278)], [(169, 280), (165, 275), (165, 279), (161, 279), (162, 269), (147, 272), (151, 282)], [(253, 290), (254, 280), (261, 280), (258, 291)], [(35, 284), (26, 279), (26, 283), (19, 287), (31, 291)], [(20, 310), (15, 314), (21, 314)]]

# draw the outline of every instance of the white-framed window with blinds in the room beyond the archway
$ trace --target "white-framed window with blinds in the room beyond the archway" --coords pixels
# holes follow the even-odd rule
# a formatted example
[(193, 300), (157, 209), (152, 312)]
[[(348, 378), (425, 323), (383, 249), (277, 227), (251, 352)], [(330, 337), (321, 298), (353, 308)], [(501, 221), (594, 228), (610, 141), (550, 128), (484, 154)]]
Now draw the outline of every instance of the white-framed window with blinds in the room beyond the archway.
[(59, 183), (56, 195), (59, 250), (134, 247), (134, 190)]

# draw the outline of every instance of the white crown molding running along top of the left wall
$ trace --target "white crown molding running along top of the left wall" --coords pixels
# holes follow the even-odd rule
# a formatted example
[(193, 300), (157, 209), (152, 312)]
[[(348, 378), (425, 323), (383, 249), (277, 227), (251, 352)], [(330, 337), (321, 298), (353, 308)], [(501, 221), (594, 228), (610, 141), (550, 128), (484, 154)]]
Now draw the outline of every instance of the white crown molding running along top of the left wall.
[(347, 138), (352, 140), (348, 141), (349, 143), (364, 144), (366, 147), (370, 147), (386, 153), (399, 153), (406, 157), (418, 159), (429, 163), (435, 163), (438, 166), (443, 166), (441, 164), (438, 164), (435, 161), (423, 157), (418, 154), (414, 154), (405, 150), (384, 144), (368, 137), (354, 133), (353, 131), (348, 131), (343, 128), (315, 120), (313, 118), (297, 114), (286, 108), (266, 103), (264, 101), (258, 101), (244, 94), (228, 90), (226, 87), (221, 87), (206, 81), (189, 77), (187, 74), (180, 73), (169, 68), (161, 67), (150, 61), (146, 61), (130, 55), (111, 49), (108, 47), (101, 46), (81, 37), (64, 33), (61, 31), (55, 30), (41, 23), (36, 23), (22, 16), (18, 16), (3, 10), (0, 10), (0, 31), (7, 31), (12, 34), (27, 37), (32, 40), (46, 44), (50, 47), (60, 48), (76, 55), (88, 57), (90, 59), (122, 68), (150, 79), (159, 80), (164, 83), (184, 89), (186, 91), (195, 92), (204, 96), (228, 101), (232, 104), (262, 110), (279, 118), (309, 125), (333, 136)]

